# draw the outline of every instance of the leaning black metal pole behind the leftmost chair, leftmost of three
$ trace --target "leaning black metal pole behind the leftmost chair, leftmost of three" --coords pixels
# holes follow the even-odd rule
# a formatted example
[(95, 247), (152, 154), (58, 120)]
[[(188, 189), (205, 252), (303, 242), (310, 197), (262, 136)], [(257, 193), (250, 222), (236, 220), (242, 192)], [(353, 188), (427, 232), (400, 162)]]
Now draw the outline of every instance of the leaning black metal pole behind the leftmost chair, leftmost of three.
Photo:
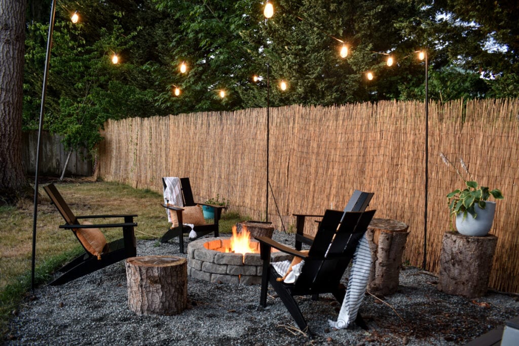
[(38, 215), (38, 171), (39, 152), (42, 143), (43, 114), (45, 109), (45, 96), (47, 93), (47, 77), (49, 74), (50, 50), (52, 48), (52, 33), (54, 31), (54, 19), (56, 18), (56, 0), (52, 0), (50, 7), (49, 35), (47, 37), (47, 54), (45, 56), (45, 70), (43, 73), (42, 105), (39, 110), (38, 145), (36, 147), (36, 168), (34, 177), (34, 213), (33, 213), (33, 243), (31, 261), (31, 289), (34, 289), (34, 271), (36, 262), (36, 220)]

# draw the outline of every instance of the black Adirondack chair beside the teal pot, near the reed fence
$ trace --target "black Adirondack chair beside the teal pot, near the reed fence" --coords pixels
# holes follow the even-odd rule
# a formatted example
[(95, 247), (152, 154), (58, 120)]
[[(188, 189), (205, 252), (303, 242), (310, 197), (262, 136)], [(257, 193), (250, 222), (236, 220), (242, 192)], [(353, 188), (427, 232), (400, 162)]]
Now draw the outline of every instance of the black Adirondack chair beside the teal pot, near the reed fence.
[[(165, 179), (162, 178), (162, 185), (166, 189)], [(208, 225), (195, 225), (193, 230), (197, 233), (197, 239), (211, 232), (214, 233), (215, 237), (218, 237), (218, 222), (220, 222), (220, 217), (222, 215), (222, 210), (225, 209), (225, 206), (222, 205), (212, 205), (206, 203), (195, 203), (193, 198), (193, 191), (191, 190), (191, 184), (189, 183), (189, 178), (180, 178), (180, 185), (182, 190), (182, 200), (184, 202), (184, 206), (194, 206), (194, 205), (208, 205), (214, 208), (214, 219), (212, 224)], [(184, 234), (189, 233), (191, 228), (182, 224), (182, 207), (167, 205), (162, 203), (163, 207), (173, 210), (176, 212), (176, 218), (179, 221), (179, 225), (176, 227), (171, 227), (168, 229), (166, 233), (160, 239), (161, 243), (166, 243), (174, 237), (179, 237), (179, 247), (180, 252), (184, 253)]]

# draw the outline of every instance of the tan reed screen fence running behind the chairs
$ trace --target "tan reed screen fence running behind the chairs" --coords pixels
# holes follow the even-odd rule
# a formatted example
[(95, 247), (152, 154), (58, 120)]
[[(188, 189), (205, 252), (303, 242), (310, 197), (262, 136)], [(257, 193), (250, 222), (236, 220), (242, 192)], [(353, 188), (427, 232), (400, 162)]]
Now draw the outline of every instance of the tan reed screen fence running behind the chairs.
[[(439, 270), (450, 227), (446, 194), (463, 187), (443, 155), (463, 178), (502, 190), (491, 231), (499, 240), (490, 287), (519, 292), (518, 114), (517, 99), (429, 104), (428, 270)], [(424, 103), (286, 106), (271, 108), (269, 119), (268, 219), (277, 229), (293, 230), (293, 213), (342, 210), (354, 189), (372, 191), (376, 217), (409, 225), (404, 260), (422, 265)], [(197, 201), (219, 194), (231, 210), (264, 220), (266, 123), (265, 108), (108, 121), (99, 174), (159, 192), (162, 176), (188, 176)], [(316, 227), (307, 225), (308, 233)]]

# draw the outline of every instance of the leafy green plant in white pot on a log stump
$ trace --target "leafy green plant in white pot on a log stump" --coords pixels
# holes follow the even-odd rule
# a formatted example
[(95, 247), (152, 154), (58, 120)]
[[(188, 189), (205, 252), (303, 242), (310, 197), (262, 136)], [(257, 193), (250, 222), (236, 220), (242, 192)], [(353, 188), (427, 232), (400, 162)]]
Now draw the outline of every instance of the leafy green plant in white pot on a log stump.
[[(453, 165), (443, 154), (442, 159)], [(463, 160), (460, 162), (468, 172), (465, 162)], [(454, 168), (456, 169), (456, 167)], [(457, 169), (456, 172), (461, 176)], [(490, 190), (487, 186), (480, 186), (475, 181), (465, 179), (463, 181), (466, 188), (456, 189), (447, 194), (450, 216), (455, 218), (456, 229), (459, 233), (466, 236), (486, 236), (492, 227), (496, 212), (496, 202), (488, 201), (488, 199), (490, 196), (496, 200), (503, 199), (503, 194), (499, 189)]]

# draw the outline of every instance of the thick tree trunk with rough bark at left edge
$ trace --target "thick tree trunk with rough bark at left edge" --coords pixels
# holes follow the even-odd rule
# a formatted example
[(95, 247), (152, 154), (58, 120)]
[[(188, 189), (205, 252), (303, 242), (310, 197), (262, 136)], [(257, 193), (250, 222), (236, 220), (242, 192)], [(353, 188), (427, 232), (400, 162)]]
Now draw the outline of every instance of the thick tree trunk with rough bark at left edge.
[(26, 0), (0, 0), (0, 204), (29, 197), (22, 165)]

